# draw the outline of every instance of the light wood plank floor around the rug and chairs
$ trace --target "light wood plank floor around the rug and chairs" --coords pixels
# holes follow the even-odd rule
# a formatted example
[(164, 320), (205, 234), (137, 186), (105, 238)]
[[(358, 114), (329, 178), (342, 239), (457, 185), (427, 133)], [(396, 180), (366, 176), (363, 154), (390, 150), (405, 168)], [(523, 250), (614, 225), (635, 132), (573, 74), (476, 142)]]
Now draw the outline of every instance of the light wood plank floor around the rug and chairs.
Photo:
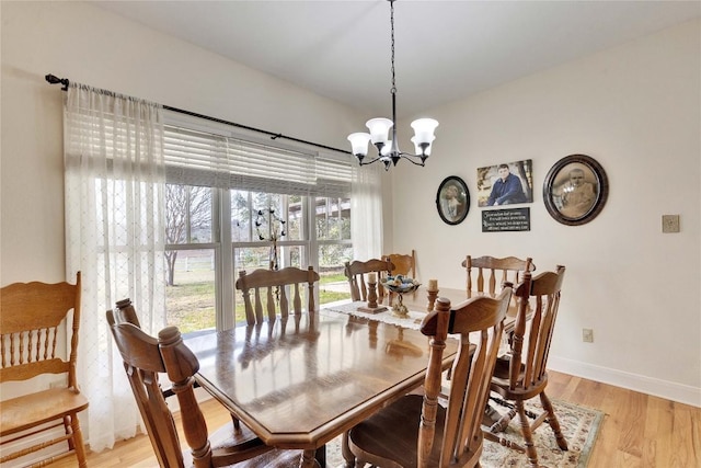
[[(588, 468), (701, 467), (701, 408), (554, 372), (548, 389), (551, 398), (604, 411)], [(210, 427), (229, 421), (215, 400), (202, 407)], [(180, 427), (180, 421), (176, 424)], [(112, 450), (89, 452), (88, 465), (122, 468), (157, 467), (158, 463), (148, 436), (140, 435), (117, 443)], [(49, 465), (74, 466), (72, 457)]]

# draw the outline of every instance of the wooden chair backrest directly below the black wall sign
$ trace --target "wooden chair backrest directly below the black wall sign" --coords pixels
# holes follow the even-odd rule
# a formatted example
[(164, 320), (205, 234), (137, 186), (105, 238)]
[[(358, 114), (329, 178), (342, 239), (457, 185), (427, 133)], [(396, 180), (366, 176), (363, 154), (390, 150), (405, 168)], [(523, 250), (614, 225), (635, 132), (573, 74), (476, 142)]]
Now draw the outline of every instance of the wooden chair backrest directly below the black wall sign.
[[(520, 260), (516, 256), (495, 259), (489, 255), (475, 258), (468, 255), (466, 260), (462, 261), (462, 266), (467, 269), (468, 272), (468, 297), (472, 293), (489, 293), (494, 296), (497, 278), (499, 285), (504, 282), (516, 285), (522, 279), (525, 272), (536, 270), (536, 265), (530, 258)], [(473, 271), (473, 269), (475, 271)], [(486, 289), (484, 287), (485, 281)]]

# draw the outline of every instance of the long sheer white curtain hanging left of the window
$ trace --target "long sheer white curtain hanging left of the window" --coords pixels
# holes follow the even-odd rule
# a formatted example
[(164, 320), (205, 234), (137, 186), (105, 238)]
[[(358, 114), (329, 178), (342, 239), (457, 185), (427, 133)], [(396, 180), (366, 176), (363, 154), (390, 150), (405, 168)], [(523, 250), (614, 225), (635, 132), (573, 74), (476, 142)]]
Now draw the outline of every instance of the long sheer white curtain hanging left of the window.
[(68, 277), (82, 272), (78, 381), (93, 450), (140, 421), (105, 310), (130, 298), (153, 334), (165, 315), (161, 106), (72, 83), (64, 107)]

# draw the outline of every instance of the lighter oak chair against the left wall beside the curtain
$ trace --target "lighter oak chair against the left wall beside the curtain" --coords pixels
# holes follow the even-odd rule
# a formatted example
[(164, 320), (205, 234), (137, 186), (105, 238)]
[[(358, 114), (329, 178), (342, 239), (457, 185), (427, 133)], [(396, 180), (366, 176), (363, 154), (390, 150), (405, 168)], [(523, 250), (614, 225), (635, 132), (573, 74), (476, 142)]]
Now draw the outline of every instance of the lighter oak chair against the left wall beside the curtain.
[[(54, 375), (56, 381), (50, 388), (0, 401), (0, 437), (4, 440), (0, 465), (66, 443), (61, 456), (74, 454), (78, 466), (87, 466), (78, 413), (88, 409), (88, 399), (76, 377), (80, 293), (80, 272), (76, 284), (14, 283), (0, 290), (0, 383), (47, 375)], [(60, 336), (66, 336), (67, 356), (57, 346)], [(56, 434), (57, 427), (62, 435)], [(43, 459), (32, 460), (33, 466), (57, 458), (38, 456)]]

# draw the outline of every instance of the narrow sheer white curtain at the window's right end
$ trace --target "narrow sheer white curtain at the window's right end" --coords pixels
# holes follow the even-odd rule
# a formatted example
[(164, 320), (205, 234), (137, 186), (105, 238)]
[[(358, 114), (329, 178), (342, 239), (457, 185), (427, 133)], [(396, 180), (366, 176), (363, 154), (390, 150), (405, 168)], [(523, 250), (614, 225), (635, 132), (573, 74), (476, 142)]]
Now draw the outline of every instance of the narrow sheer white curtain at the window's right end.
[(350, 237), (354, 260), (382, 256), (382, 164), (354, 165)]

